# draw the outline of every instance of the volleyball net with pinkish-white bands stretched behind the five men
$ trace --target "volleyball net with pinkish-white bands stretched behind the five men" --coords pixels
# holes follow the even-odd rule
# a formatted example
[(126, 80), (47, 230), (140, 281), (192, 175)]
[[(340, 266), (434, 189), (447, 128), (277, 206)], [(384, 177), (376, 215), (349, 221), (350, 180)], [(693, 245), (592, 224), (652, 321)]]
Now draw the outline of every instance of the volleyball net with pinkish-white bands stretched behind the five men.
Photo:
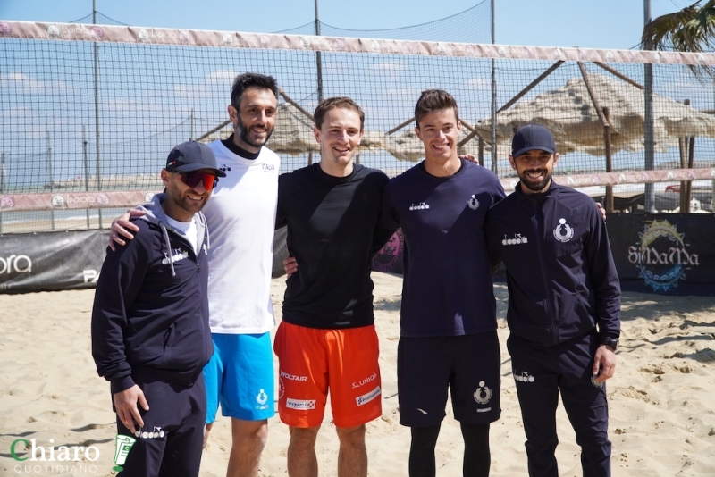
[(649, 188), (658, 210), (685, 197), (711, 210), (715, 87), (702, 71), (715, 54), (16, 21), (0, 21), (0, 49), (0, 233), (106, 226), (96, 209), (144, 202), (173, 146), (231, 134), (231, 82), (246, 71), (281, 88), (267, 146), (282, 172), (319, 160), (311, 114), (329, 96), (366, 112), (357, 160), (404, 172), (424, 157), (416, 100), (442, 88), (458, 100), (459, 152), (508, 190), (511, 137), (537, 122), (557, 140), (559, 182), (610, 193), (617, 210), (643, 210)]

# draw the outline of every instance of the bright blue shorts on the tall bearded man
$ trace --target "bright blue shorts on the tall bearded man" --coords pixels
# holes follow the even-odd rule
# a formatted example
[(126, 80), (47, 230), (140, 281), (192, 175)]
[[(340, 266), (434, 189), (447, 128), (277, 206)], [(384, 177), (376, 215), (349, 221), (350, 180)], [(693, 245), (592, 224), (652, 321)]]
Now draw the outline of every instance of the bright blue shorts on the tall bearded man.
[(271, 333), (212, 333), (214, 356), (204, 368), (206, 423), (221, 414), (243, 421), (262, 421), (275, 414)]

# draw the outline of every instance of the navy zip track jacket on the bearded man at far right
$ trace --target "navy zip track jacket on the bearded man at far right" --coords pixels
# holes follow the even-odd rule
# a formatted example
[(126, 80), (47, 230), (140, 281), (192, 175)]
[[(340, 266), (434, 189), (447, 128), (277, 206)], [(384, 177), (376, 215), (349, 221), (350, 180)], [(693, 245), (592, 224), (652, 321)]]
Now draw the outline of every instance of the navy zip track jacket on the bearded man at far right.
[(507, 269), (512, 333), (552, 346), (593, 331), (620, 335), (620, 283), (606, 225), (591, 197), (551, 186), (517, 190), (487, 215), (492, 266)]

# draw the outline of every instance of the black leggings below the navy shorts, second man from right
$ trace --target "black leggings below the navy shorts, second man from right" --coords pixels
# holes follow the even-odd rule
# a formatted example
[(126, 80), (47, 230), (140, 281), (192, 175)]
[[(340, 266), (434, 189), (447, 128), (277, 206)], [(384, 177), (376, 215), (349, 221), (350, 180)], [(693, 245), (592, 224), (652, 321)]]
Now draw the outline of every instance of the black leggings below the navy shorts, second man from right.
[[(464, 438), (464, 477), (487, 477), (492, 455), (489, 451), (489, 424), (460, 423)], [(409, 448), (409, 477), (434, 477), (434, 447), (441, 424), (413, 427)]]

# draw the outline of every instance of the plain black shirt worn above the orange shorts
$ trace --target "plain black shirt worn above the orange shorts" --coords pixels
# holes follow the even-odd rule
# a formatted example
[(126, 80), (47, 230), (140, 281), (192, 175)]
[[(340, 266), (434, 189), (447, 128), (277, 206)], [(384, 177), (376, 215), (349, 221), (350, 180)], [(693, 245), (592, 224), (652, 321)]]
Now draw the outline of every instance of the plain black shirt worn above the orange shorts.
[(356, 164), (348, 177), (320, 164), (282, 174), (276, 227), (298, 272), (288, 279), (283, 320), (308, 328), (374, 323), (371, 259), (394, 230), (376, 227), (387, 176)]

